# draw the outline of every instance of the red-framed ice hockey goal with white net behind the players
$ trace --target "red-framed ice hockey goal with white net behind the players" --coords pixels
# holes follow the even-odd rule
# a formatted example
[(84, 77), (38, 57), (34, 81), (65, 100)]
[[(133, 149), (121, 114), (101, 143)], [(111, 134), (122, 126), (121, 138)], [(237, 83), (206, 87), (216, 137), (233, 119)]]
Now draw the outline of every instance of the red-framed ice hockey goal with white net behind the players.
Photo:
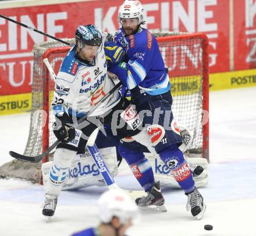
[[(193, 133), (193, 141), (186, 154), (209, 160), (208, 39), (201, 33), (159, 32), (154, 35), (157, 37), (172, 84), (173, 115), (179, 126), (186, 127)], [(73, 39), (65, 41), (74, 43)], [(58, 41), (34, 45), (30, 131), (24, 155), (39, 155), (56, 141), (52, 132), (55, 118), (51, 111), (55, 81), (49, 76), (42, 60), (48, 58), (57, 74), (69, 49), (70, 47)], [(47, 159), (44, 159), (44, 162), (47, 162)], [(40, 182), (41, 164), (13, 160), (0, 167), (0, 176)]]

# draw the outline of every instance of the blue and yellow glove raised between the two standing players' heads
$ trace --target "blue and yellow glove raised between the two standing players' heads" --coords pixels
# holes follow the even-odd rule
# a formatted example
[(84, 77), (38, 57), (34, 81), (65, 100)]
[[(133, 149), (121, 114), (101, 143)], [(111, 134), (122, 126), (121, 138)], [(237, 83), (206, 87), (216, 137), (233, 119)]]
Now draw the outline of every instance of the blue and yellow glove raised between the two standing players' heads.
[(123, 58), (125, 58), (126, 52), (122, 47), (119, 47), (115, 42), (105, 42), (104, 51), (106, 55), (106, 60), (108, 63), (118, 64)]

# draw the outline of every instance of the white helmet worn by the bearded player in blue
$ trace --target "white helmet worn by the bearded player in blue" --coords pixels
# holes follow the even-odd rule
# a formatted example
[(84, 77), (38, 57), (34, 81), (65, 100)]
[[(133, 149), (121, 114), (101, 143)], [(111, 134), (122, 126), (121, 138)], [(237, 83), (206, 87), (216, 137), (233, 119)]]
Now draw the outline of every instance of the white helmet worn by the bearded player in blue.
[(138, 24), (145, 24), (144, 8), (138, 0), (125, 0), (118, 9), (118, 22), (120, 19), (138, 18)]

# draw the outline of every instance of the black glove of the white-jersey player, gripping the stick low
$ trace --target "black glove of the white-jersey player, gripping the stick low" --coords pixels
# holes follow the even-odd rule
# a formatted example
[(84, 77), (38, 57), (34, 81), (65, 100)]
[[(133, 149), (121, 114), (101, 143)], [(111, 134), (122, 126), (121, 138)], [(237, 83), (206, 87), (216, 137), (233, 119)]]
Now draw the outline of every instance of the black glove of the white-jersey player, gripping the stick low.
[(54, 134), (58, 140), (66, 143), (73, 140), (75, 137), (75, 131), (73, 127), (66, 126), (65, 124), (57, 126), (56, 122), (54, 122)]

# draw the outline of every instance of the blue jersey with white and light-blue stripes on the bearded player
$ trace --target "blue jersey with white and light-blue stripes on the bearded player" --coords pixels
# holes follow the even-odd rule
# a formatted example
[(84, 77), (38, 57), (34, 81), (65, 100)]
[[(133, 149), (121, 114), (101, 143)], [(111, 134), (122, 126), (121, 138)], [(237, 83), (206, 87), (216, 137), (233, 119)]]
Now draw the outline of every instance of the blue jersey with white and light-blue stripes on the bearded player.
[(129, 61), (112, 65), (109, 71), (116, 74), (125, 87), (131, 90), (138, 85), (150, 95), (170, 91), (169, 76), (154, 35), (140, 28), (136, 34), (125, 37), (120, 28), (115, 34), (115, 42), (126, 49)]

